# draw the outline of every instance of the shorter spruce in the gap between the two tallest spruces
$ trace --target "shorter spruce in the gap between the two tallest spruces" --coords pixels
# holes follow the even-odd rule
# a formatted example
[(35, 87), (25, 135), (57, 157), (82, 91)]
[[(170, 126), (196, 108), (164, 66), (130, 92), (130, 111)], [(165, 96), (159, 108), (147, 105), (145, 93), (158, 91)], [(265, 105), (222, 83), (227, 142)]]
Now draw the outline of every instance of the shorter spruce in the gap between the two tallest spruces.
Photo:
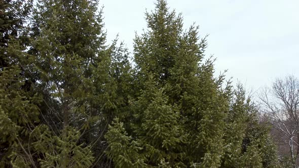
[[(98, 63), (95, 68), (92, 81), (94, 91), (90, 97), (93, 103), (92, 116), (95, 117), (95, 124), (89, 124), (87, 131), (87, 142), (93, 144), (93, 151), (95, 153), (102, 153), (107, 148), (107, 143), (104, 140), (104, 135), (114, 117), (128, 120), (130, 118), (129, 102), (132, 94), (132, 75), (131, 66), (128, 61), (128, 53), (123, 48), (123, 44), (116, 46), (115, 40), (113, 45), (107, 49), (109, 57), (105, 57)], [(80, 119), (80, 118), (78, 118)], [(100, 134), (99, 134), (100, 132)], [(94, 136), (97, 135), (97, 136)], [(97, 155), (94, 166), (104, 166), (110, 161), (106, 155)]]

